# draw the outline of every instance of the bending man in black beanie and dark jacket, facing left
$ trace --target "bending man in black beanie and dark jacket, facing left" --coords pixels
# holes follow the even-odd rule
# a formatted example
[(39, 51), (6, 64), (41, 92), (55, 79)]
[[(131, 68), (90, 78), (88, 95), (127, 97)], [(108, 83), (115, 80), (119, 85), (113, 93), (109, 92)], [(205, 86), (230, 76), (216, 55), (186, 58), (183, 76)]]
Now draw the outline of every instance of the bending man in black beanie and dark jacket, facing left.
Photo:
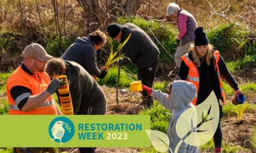
[[(118, 64), (123, 66), (133, 62), (139, 69), (138, 80), (141, 80), (145, 86), (152, 88), (160, 52), (147, 33), (132, 23), (109, 24), (107, 32), (118, 43), (124, 43), (131, 33), (130, 39), (123, 47), (125, 56), (128, 58), (119, 60)], [(144, 92), (142, 95), (144, 97), (142, 104), (147, 103), (147, 107), (153, 106), (153, 98)]]

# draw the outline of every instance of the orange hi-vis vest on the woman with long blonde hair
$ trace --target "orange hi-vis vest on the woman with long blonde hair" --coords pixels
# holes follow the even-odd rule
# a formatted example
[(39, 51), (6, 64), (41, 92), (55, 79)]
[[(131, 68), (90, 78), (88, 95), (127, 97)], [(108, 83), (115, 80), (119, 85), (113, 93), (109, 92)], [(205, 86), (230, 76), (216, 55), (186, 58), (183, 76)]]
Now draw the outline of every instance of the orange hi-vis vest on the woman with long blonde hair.
[[(220, 82), (220, 91), (221, 91), (221, 96), (223, 98), (223, 103), (225, 104), (225, 92), (223, 90), (223, 86), (221, 83), (221, 78), (220, 78), (220, 71), (219, 71), (219, 66), (218, 66), (218, 62), (220, 60), (220, 53), (218, 50), (216, 50), (213, 53), (213, 56), (215, 58), (214, 61), (214, 67), (215, 67), (215, 71), (217, 71), (218, 73), (218, 78), (219, 78), (219, 82)], [(194, 83), (196, 86), (196, 97), (193, 101), (191, 101), (191, 103), (193, 103), (196, 106), (196, 101), (197, 101), (197, 95), (198, 95), (198, 89), (199, 89), (199, 73), (198, 73), (198, 69), (196, 67), (196, 65), (189, 59), (188, 54), (183, 55), (181, 57), (181, 59), (185, 62), (185, 64), (188, 66), (189, 71), (188, 71), (188, 76), (186, 81)], [(216, 70), (217, 69), (217, 70)]]

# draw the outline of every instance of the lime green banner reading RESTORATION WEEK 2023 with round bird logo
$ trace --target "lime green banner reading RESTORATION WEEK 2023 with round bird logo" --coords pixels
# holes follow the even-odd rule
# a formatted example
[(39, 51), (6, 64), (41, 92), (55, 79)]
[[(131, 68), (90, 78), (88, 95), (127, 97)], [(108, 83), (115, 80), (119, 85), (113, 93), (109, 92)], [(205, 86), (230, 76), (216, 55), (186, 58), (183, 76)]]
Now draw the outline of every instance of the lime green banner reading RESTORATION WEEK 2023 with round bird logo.
[(150, 147), (150, 115), (0, 115), (0, 147)]

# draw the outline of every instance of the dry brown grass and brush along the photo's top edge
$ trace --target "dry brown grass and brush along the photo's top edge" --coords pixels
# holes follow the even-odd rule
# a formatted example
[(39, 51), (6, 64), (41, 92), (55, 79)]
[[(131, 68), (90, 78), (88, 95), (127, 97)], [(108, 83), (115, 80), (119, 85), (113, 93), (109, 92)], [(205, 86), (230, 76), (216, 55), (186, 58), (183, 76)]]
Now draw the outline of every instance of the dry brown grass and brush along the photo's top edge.
[[(56, 27), (53, 26), (55, 25), (53, 0), (37, 0), (43, 26), (39, 20), (35, 1), (26, 0), (21, 2), (22, 3), (19, 3), (19, 1), (14, 0), (1, 1), (0, 30), (21, 32), (27, 34), (27, 36), (31, 36), (32, 34), (42, 35), (44, 29), (46, 36), (53, 36), (54, 32), (56, 32)], [(90, 31), (98, 28), (105, 31), (106, 25), (114, 22), (117, 7), (119, 8), (119, 14), (127, 12), (128, 15), (135, 15), (135, 10), (138, 10), (138, 6), (140, 6), (137, 11), (139, 16), (148, 19), (163, 16), (163, 19), (165, 19), (166, 7), (170, 3), (170, 1), (167, 0), (139, 2), (130, 0), (126, 2), (126, 8), (121, 1), (115, 1), (115, 3), (113, 3), (113, 1), (93, 0), (89, 3), (89, 1), (82, 0), (58, 0), (57, 2), (58, 20), (62, 34), (65, 35), (66, 33), (66, 35), (74, 36), (85, 36)], [(80, 7), (78, 2), (87, 7)], [(106, 2), (108, 4), (106, 4)], [(219, 22), (229, 22), (228, 20), (243, 22), (251, 30), (255, 30), (256, 27), (256, 2), (254, 0), (180, 0), (175, 2), (179, 4), (181, 8), (193, 13), (198, 25), (204, 26), (207, 29)], [(97, 10), (96, 7), (101, 7), (101, 10), (99, 10), (99, 8), (97, 8)], [(91, 12), (87, 12), (86, 14), (86, 12), (84, 12), (86, 8), (90, 8), (89, 10), (91, 10)], [(123, 13), (121, 11), (122, 9)]]

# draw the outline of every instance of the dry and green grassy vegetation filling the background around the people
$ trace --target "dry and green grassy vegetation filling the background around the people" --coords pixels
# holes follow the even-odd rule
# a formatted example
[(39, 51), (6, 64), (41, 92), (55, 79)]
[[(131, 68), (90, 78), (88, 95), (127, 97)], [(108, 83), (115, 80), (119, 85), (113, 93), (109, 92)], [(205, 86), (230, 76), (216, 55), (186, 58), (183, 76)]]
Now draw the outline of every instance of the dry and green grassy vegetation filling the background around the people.
[[(249, 99), (245, 110), (245, 114), (249, 114), (246, 115), (244, 120), (246, 121), (255, 114), (256, 106), (256, 2), (254, 0), (172, 2), (191, 12), (198, 25), (206, 30), (210, 43), (220, 50), (230, 72), (238, 80), (239, 88)], [(31, 42), (39, 43), (47, 53), (60, 57), (77, 37), (87, 36), (97, 29), (106, 32), (109, 23), (134, 23), (153, 39), (161, 52), (154, 89), (166, 92), (167, 84), (173, 80), (167, 76), (174, 70), (175, 37), (178, 35), (177, 21), (166, 16), (166, 7), (169, 3), (170, 1), (167, 0), (1, 0), (0, 115), (9, 112), (5, 91), (6, 81), (13, 70), (20, 65), (21, 53), (27, 45)], [(118, 44), (115, 42), (113, 44), (117, 48)], [(102, 58), (107, 59), (109, 52), (109, 45), (97, 52), (99, 67), (105, 64)], [(133, 64), (127, 66), (127, 69), (137, 74)], [(136, 80), (132, 75), (128, 75), (131, 74), (129, 71), (122, 69), (119, 86), (128, 88), (130, 82)], [(113, 66), (107, 76), (98, 80), (98, 83), (102, 86), (115, 87), (116, 76), (117, 67)], [(234, 105), (230, 103), (234, 91), (226, 83), (223, 83), (223, 86), (228, 99), (227, 105), (223, 106), (225, 119), (223, 124), (225, 127), (228, 124), (230, 128), (233, 123), (228, 118), (236, 117)], [(151, 115), (151, 129), (167, 132), (171, 113), (157, 101), (152, 109), (142, 110), (139, 114)], [(255, 120), (250, 118), (250, 122)], [(245, 130), (248, 127), (246, 126)], [(233, 137), (232, 134), (225, 135), (223, 152), (253, 151), (250, 145), (245, 145), (244, 139), (239, 139), (241, 142), (238, 144), (232, 144), (230, 137)], [(157, 152), (153, 148), (141, 150), (145, 153)], [(201, 146), (202, 152), (213, 152), (213, 150), (212, 140)], [(12, 152), (12, 148), (0, 148), (0, 152)]]

